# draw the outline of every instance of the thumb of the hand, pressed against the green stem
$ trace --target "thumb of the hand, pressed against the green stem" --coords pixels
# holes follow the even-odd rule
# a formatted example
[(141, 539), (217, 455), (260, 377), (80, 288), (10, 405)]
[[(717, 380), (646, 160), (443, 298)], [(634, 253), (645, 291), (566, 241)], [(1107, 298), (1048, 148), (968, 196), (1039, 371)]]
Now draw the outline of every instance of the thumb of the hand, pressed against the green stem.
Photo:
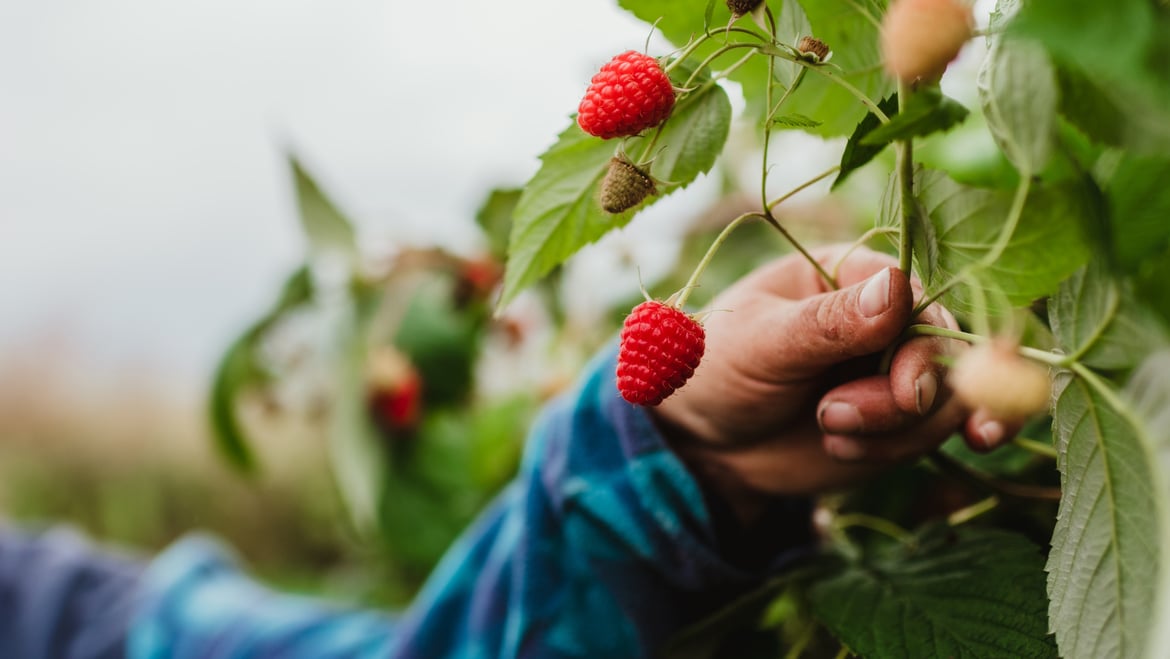
[(910, 281), (894, 267), (848, 288), (779, 306), (764, 318), (776, 337), (769, 363), (785, 377), (807, 377), (878, 352), (906, 329), (913, 306)]

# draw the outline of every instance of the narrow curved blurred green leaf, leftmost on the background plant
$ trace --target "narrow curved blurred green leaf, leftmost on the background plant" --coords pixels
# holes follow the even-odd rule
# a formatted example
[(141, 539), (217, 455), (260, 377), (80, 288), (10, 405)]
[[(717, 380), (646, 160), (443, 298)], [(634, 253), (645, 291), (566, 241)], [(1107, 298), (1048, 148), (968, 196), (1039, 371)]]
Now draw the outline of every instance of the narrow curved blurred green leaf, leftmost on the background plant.
[(311, 298), (312, 280), (309, 269), (301, 267), (284, 282), (276, 304), (232, 342), (215, 368), (208, 397), (212, 438), (219, 453), (241, 472), (254, 473), (257, 469), (236, 409), (240, 396), (264, 379), (256, 353), (269, 328), (287, 311)]

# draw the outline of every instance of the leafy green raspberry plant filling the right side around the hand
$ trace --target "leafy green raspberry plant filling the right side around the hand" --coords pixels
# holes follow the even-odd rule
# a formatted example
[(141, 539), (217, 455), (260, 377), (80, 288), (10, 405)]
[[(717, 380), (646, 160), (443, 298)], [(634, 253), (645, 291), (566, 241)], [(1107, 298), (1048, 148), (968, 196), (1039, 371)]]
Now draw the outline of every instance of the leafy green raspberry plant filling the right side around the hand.
[[(844, 144), (838, 166), (797, 190), (832, 177), (831, 194), (846, 194), (859, 171), (887, 176), (868, 199), (873, 225), (854, 238), (888, 240), (923, 283), (918, 309), (941, 302), (965, 328), (906, 335), (994, 346), (970, 351), (999, 355), (992, 380), (1033, 383), (1004, 401), (964, 364), (966, 396), (990, 391), (1021, 416), (1049, 399), (997, 454), (949, 444), (928, 469), (826, 502), (819, 562), (696, 626), (673, 653), (727, 655), (760, 620), (776, 657), (1170, 652), (1166, 2), (999, 0), (987, 16), (965, 0), (619, 5), (673, 42), (649, 67), (669, 76), (673, 108), (661, 123), (592, 131), (600, 137), (578, 116), (557, 137), (514, 213), (502, 304), (723, 164), (734, 124), (757, 138), (758, 206), (711, 241), (679, 307), (749, 221), (807, 256), (782, 221), (790, 194), (770, 197), (768, 185), (779, 158), (797, 157), (770, 150), (776, 133), (801, 130)], [(940, 77), (975, 39), (987, 48), (968, 108)], [(957, 135), (993, 143), (998, 165), (972, 172), (940, 157)], [(614, 158), (638, 163), (641, 188), (656, 194), (603, 204)], [(812, 262), (832, 284), (832, 268)], [(1049, 380), (1051, 397), (1038, 398)], [(759, 602), (770, 603), (763, 613)]]

